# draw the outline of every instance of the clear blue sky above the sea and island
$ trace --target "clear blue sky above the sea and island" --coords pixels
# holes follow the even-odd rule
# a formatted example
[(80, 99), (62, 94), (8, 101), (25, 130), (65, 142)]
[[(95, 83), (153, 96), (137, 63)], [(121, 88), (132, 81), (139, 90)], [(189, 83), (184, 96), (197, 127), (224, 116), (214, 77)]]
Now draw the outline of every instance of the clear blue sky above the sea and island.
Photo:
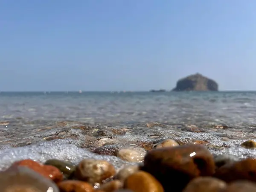
[(0, 90), (256, 90), (256, 0), (0, 0)]

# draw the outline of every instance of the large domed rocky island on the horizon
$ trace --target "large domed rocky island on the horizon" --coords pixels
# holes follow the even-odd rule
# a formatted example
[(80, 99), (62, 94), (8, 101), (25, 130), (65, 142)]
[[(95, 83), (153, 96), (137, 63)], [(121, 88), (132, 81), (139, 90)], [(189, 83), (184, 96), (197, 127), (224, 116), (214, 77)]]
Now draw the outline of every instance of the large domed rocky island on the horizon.
[(218, 91), (218, 84), (214, 80), (196, 73), (178, 80), (172, 91)]

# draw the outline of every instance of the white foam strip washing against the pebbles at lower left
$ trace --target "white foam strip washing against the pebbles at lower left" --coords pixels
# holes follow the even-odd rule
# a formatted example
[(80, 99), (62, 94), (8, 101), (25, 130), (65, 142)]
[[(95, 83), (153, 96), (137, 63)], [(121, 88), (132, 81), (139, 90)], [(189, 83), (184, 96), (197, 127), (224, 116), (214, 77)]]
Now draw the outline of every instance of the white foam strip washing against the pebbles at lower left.
[(59, 159), (77, 164), (84, 158), (107, 160), (111, 162), (116, 169), (119, 169), (124, 164), (132, 164), (120, 160), (115, 156), (94, 154), (85, 148), (68, 144), (63, 140), (53, 140), (37, 143), (35, 145), (0, 150), (0, 171), (7, 169), (15, 161), (23, 159), (32, 159), (40, 161), (41, 163), (44, 163), (48, 159)]

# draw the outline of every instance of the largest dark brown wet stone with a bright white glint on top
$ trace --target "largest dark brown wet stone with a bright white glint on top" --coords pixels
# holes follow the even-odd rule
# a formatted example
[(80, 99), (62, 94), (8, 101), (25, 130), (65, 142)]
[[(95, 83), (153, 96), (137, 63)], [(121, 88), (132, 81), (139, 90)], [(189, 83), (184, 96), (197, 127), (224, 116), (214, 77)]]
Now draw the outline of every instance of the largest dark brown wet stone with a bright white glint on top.
[(215, 164), (204, 145), (181, 145), (148, 151), (142, 170), (156, 177), (165, 191), (182, 191), (193, 178), (213, 175)]

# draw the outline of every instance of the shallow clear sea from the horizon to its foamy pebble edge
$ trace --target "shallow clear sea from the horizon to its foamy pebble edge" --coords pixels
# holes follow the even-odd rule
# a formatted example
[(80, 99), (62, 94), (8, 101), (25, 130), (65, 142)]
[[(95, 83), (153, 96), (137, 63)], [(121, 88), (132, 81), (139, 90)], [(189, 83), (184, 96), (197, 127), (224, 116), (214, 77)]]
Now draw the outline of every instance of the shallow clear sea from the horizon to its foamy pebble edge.
[(255, 131), (256, 92), (0, 92), (0, 170), (26, 158), (121, 167), (127, 162), (93, 147), (168, 138), (243, 159), (256, 157), (241, 147)]

